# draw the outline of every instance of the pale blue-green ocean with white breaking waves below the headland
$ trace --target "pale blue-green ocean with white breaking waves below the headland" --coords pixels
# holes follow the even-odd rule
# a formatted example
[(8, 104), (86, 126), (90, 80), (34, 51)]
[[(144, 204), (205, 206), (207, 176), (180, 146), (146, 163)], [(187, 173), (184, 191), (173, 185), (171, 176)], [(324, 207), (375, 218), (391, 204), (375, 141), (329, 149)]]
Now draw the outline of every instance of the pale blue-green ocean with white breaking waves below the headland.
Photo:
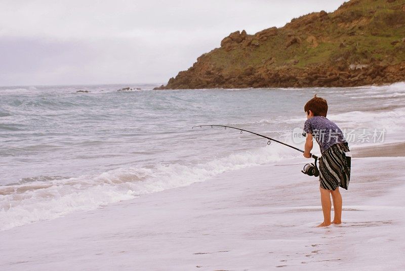
[[(346, 133), (350, 148), (401, 142), (405, 132), (405, 83), (331, 89), (154, 91), (155, 86), (0, 87), (0, 230), (237, 169), (310, 162), (297, 150), (249, 133), (191, 128), (232, 126), (303, 149), (303, 108), (314, 94), (328, 100), (327, 117)], [(312, 152), (319, 155), (317, 144)], [(292, 164), (291, 170), (301, 168)]]

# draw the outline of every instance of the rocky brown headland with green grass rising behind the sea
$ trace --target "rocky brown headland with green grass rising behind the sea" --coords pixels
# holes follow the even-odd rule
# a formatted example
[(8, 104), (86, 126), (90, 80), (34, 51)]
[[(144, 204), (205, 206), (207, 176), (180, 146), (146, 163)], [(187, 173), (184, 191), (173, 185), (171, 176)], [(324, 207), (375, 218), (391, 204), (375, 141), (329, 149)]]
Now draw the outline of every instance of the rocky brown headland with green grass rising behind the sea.
[(405, 81), (405, 1), (351, 0), (225, 37), (156, 89), (352, 87)]

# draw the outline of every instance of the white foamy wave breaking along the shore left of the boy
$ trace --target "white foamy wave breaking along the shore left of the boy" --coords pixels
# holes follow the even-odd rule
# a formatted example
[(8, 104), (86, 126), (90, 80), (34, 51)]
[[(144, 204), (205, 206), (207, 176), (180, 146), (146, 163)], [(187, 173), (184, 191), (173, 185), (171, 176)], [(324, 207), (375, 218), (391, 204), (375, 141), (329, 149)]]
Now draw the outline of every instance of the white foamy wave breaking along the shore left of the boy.
[(226, 171), (297, 157), (297, 151), (277, 145), (231, 154), (201, 164), (119, 168), (99, 175), (51, 181), (31, 181), (0, 187), (0, 230), (92, 210), (140, 195), (190, 185)]

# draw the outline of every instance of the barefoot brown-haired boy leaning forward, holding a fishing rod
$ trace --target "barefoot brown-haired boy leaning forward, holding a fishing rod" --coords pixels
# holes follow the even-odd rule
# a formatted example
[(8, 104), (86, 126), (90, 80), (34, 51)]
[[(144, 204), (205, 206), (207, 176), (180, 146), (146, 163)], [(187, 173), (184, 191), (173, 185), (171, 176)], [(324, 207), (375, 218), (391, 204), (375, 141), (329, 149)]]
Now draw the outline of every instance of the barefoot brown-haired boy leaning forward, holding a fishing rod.
[[(319, 190), (322, 204), (323, 222), (318, 227), (342, 223), (342, 196), (339, 186), (347, 190), (350, 180), (350, 158), (345, 152), (350, 151), (348, 143), (339, 127), (326, 118), (328, 103), (315, 96), (304, 106), (307, 120), (304, 124), (306, 133), (304, 157), (311, 158), (312, 138), (315, 137), (321, 152), (319, 158)], [(335, 217), (331, 222), (331, 195)]]

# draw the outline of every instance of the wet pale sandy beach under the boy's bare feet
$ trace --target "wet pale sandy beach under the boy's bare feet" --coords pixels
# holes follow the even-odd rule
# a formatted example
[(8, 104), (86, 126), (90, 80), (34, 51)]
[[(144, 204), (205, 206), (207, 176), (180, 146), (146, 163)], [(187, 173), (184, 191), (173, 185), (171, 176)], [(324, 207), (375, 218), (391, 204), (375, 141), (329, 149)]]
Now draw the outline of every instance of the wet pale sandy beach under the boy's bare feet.
[(405, 158), (372, 149), (353, 151), (339, 226), (315, 227), (317, 178), (296, 159), (0, 231), (0, 268), (403, 269)]

